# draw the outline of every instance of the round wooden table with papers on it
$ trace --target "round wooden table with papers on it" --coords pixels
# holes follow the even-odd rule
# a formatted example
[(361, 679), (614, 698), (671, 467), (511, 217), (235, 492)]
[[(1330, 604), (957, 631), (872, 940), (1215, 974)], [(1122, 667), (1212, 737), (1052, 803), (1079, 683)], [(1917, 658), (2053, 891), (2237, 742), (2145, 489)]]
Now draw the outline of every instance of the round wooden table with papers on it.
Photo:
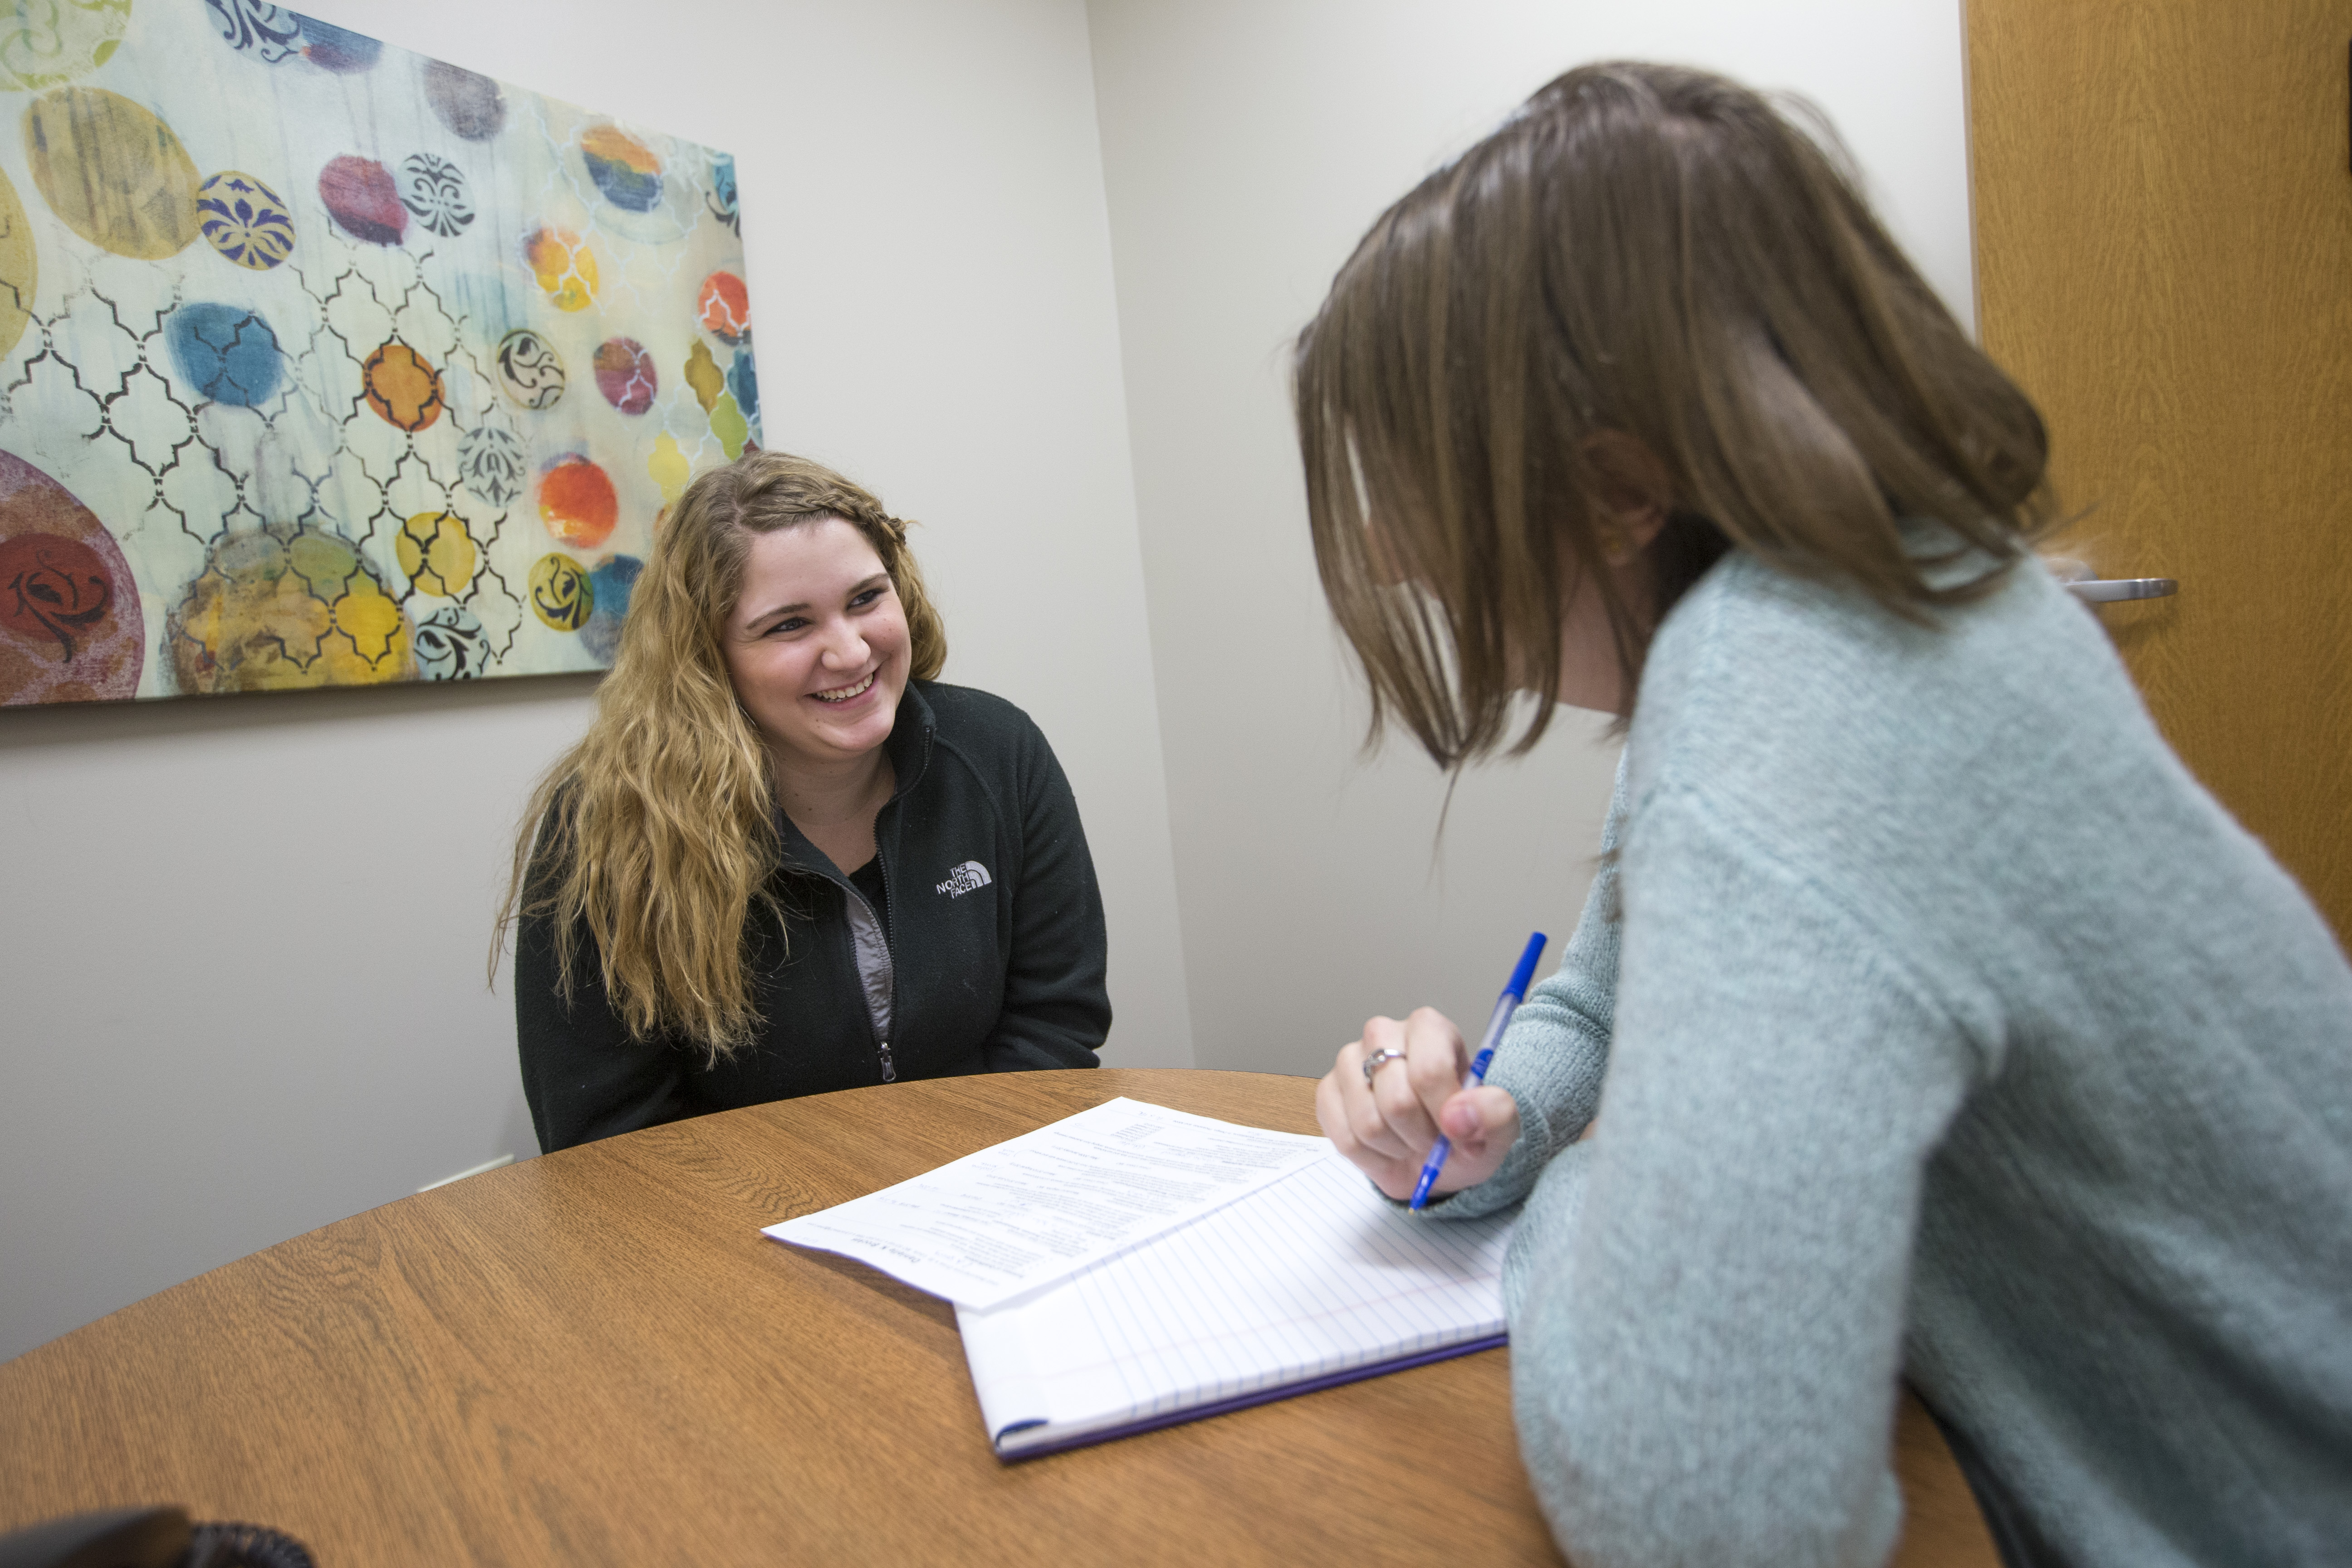
[[(946, 1302), (757, 1232), (1122, 1093), (1315, 1131), (1310, 1079), (1021, 1072), (475, 1175), (0, 1366), (0, 1530), (179, 1502), (322, 1568), (1557, 1563), (1508, 1352), (1007, 1467)], [(1896, 1561), (1997, 1568), (1910, 1401), (1896, 1458)]]

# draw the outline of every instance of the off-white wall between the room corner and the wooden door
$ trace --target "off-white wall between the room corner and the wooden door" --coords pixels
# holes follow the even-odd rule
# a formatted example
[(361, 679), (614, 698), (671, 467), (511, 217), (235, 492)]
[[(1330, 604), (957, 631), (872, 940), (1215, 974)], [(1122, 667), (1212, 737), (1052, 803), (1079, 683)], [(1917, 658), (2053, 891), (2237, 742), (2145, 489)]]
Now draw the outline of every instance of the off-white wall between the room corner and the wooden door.
[[(1094, 0), (1136, 501), (1204, 1067), (1322, 1072), (1367, 1013), (1484, 1020), (1576, 919), (1613, 757), (1592, 724), (1463, 780), (1355, 764), (1315, 585), (1289, 336), (1371, 219), (1559, 71), (1646, 56), (1823, 103), (1929, 280), (1971, 301), (1952, 0)], [(1557, 954), (1557, 945), (1555, 945)]]

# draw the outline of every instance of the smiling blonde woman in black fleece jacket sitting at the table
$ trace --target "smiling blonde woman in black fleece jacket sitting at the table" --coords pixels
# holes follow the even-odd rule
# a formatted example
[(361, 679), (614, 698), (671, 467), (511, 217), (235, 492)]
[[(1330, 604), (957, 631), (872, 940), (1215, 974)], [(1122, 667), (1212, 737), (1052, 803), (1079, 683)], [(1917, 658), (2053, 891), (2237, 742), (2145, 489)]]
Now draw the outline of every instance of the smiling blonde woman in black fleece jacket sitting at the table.
[(543, 1150), (1096, 1065), (1077, 802), (1028, 715), (938, 684), (946, 658), (906, 524), (849, 480), (753, 451), (687, 487), (499, 917)]

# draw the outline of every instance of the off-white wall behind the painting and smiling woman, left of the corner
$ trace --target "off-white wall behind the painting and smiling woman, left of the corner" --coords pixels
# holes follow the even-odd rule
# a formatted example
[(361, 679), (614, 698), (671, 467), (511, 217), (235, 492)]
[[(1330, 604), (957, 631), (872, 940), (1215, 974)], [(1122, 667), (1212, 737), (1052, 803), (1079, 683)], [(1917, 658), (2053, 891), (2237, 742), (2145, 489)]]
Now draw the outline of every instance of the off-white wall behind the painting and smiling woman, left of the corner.
[[(948, 677), (1028, 708), (1077, 788), (1105, 1060), (1188, 1065), (1077, 0), (306, 9), (736, 155), (769, 442), (924, 520)], [(590, 693), (0, 712), (0, 1359), (534, 1152), (482, 957)]]

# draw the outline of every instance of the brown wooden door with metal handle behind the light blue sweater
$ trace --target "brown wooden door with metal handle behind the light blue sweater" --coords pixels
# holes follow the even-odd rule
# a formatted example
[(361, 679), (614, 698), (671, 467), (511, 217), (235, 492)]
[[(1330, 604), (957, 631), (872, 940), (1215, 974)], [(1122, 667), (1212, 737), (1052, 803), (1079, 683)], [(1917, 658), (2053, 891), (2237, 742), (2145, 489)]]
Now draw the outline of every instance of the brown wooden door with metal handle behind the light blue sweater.
[[(2352, 945), (2352, 0), (1966, 0), (1978, 320), (2166, 738)], [(2161, 853), (2161, 846), (2150, 846)]]

